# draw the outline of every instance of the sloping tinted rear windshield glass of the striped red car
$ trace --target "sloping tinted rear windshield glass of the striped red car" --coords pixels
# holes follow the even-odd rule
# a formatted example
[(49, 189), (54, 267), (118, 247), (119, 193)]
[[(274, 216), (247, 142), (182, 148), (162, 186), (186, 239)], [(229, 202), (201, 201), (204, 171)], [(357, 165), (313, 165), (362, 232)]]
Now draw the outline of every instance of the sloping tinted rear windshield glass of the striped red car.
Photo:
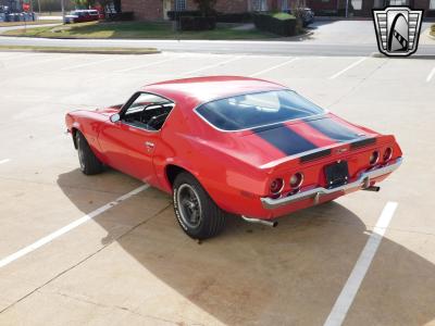
[(322, 114), (291, 90), (241, 95), (202, 104), (197, 112), (216, 128), (234, 131)]

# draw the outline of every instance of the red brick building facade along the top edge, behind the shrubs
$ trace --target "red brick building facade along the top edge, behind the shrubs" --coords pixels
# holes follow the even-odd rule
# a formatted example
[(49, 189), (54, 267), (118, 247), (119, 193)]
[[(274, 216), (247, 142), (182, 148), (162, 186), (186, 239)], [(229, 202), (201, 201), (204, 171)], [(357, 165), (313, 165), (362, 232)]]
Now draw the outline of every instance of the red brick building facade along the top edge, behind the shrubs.
[[(196, 10), (194, 0), (121, 0), (122, 11), (134, 12), (136, 20), (167, 20), (167, 12)], [(223, 13), (288, 10), (296, 0), (216, 0), (215, 10)], [(316, 15), (371, 16), (372, 9), (386, 5), (410, 5), (435, 16), (435, 0), (306, 0)]]

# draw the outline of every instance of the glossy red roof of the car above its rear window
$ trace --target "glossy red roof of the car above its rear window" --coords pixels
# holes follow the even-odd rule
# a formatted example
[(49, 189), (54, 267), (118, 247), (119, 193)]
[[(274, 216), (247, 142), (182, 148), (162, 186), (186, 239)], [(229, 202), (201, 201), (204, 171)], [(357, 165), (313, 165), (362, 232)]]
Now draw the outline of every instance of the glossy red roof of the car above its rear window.
[(156, 83), (145, 86), (141, 90), (160, 95), (174, 102), (197, 106), (226, 97), (277, 89), (286, 87), (250, 77), (204, 76)]

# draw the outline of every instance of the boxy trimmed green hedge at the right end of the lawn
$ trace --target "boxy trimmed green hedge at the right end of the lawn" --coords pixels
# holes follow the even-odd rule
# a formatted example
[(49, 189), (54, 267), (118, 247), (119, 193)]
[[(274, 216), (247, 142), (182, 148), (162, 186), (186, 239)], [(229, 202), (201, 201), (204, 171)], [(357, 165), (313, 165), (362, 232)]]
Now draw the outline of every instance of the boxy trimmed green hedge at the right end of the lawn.
[(258, 29), (281, 36), (297, 34), (297, 20), (294, 15), (287, 13), (257, 13), (253, 15), (253, 24)]

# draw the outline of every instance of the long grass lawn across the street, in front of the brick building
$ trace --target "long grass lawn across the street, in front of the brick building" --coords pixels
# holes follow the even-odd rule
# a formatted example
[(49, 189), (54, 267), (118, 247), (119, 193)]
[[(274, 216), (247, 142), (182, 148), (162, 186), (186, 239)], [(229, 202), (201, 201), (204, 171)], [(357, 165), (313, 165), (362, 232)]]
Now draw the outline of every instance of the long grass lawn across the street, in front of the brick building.
[(216, 27), (214, 30), (174, 32), (171, 23), (90, 22), (51, 27), (36, 27), (9, 30), (2, 35), (51, 38), (156, 38), (156, 39), (266, 39), (276, 35), (252, 30), (235, 30), (231, 27)]

